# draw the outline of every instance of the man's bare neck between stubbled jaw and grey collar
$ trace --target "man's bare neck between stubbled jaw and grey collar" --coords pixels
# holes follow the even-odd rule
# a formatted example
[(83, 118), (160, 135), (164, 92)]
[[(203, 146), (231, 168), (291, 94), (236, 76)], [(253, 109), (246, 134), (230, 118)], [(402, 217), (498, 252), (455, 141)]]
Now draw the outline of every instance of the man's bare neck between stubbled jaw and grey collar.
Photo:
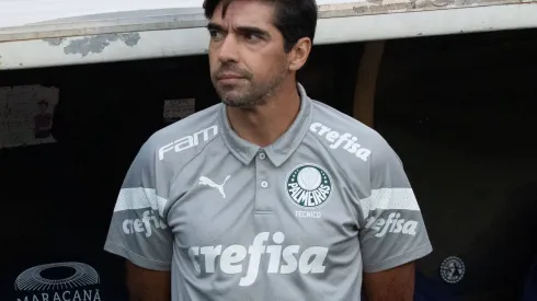
[(285, 80), (266, 103), (255, 107), (228, 107), (231, 128), (242, 139), (266, 147), (290, 127), (300, 111), (300, 95), (293, 80)]

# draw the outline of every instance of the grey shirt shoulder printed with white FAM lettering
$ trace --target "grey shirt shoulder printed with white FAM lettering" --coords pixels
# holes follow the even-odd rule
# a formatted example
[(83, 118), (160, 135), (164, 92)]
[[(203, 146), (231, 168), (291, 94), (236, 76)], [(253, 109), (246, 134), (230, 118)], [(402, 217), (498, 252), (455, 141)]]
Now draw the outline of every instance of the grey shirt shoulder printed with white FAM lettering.
[(140, 152), (150, 153), (157, 162), (188, 161), (219, 135), (219, 108), (220, 104), (210, 106), (158, 130)]

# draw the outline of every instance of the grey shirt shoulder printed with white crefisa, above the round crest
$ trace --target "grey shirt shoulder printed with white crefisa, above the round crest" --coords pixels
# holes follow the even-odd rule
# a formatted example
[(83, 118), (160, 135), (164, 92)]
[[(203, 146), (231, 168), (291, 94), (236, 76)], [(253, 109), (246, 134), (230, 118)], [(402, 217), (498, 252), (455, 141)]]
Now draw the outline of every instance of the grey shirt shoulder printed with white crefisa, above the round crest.
[(312, 101), (310, 134), (336, 161), (372, 165), (392, 154), (388, 142), (373, 128), (323, 103)]

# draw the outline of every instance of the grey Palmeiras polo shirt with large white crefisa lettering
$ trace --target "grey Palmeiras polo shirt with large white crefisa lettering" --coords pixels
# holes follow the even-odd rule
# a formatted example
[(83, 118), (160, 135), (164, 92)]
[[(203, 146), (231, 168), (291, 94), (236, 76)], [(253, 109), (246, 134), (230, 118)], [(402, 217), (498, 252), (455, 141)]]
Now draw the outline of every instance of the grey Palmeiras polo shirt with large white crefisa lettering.
[(362, 274), (432, 251), (403, 166), (373, 129), (298, 85), (300, 112), (260, 148), (224, 104), (141, 148), (105, 250), (171, 270), (172, 301), (361, 300)]

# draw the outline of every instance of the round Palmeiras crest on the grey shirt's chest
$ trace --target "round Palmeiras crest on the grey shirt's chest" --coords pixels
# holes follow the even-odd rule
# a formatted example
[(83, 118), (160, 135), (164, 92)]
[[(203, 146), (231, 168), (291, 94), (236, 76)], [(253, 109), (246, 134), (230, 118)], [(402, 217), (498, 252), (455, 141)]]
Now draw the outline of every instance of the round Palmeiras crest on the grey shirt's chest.
[(322, 206), (332, 194), (332, 180), (316, 164), (301, 164), (287, 175), (287, 195), (293, 204), (313, 209)]

